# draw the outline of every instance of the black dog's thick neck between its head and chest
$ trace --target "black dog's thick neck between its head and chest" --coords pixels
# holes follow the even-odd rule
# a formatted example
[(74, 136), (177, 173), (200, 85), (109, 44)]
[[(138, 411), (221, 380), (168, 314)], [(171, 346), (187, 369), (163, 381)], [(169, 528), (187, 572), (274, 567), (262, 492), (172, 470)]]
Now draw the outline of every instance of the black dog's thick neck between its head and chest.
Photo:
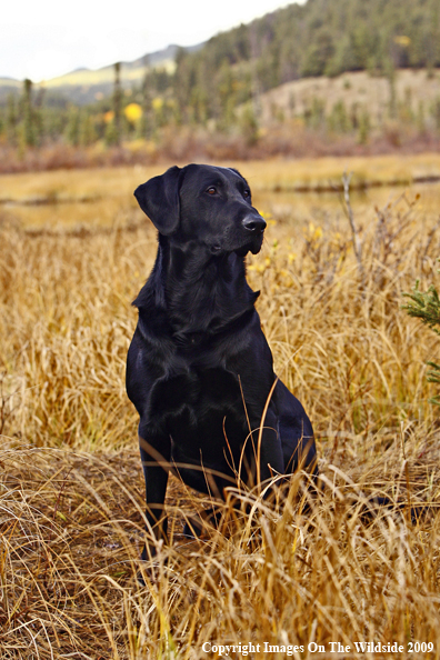
[[(234, 252), (212, 254), (208, 248), (183, 247), (160, 237), (157, 302), (164, 303), (173, 334), (182, 340), (197, 333), (216, 333), (253, 310), (259, 292), (246, 280), (244, 258)], [(160, 291), (159, 291), (159, 290)]]

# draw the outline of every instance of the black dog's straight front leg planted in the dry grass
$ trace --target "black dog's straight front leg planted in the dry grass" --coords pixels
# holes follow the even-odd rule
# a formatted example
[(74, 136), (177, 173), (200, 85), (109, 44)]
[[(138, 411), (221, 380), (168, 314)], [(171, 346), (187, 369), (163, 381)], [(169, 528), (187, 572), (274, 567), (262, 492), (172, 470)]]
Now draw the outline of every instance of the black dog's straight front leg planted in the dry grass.
[[(139, 426), (139, 448), (146, 480), (147, 533), (153, 532), (158, 541), (168, 542), (168, 519), (164, 510), (168, 474), (171, 460), (171, 439), (169, 437), (151, 437), (147, 428)], [(157, 544), (146, 542), (142, 559), (147, 560), (157, 552)]]

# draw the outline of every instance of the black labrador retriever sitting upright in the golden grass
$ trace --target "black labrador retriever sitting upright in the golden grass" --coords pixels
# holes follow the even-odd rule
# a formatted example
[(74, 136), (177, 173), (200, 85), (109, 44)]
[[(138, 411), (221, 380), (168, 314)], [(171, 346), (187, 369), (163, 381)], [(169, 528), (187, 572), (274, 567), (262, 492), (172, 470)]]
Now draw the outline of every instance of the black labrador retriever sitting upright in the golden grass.
[(273, 373), (259, 292), (246, 280), (244, 257), (259, 252), (266, 228), (246, 179), (189, 164), (134, 194), (159, 247), (133, 302), (127, 392), (140, 416), (148, 526), (166, 540), (170, 470), (224, 498), (240, 480), (254, 486), (298, 466), (316, 474), (317, 456), (303, 407)]

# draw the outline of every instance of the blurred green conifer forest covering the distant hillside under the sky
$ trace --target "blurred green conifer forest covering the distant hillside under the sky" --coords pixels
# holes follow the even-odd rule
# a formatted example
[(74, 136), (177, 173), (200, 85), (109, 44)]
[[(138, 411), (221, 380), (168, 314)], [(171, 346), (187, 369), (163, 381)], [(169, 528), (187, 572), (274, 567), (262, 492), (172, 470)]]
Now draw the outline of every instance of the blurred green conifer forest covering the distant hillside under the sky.
[[(112, 96), (83, 107), (44, 94), (26, 80), (21, 94), (0, 108), (0, 140), (19, 147), (59, 138), (74, 146), (120, 144), (189, 124), (239, 130), (252, 142), (261, 93), (304, 77), (361, 70), (387, 79), (389, 114), (397, 116), (397, 71), (422, 68), (436, 76), (440, 67), (440, 2), (308, 0), (218, 34), (199, 50), (180, 49), (174, 64), (148, 69), (141, 84), (123, 91), (117, 63)], [(437, 102), (411, 112), (413, 122), (422, 126), (430, 117), (440, 130), (440, 91)], [(320, 100), (311, 99), (302, 119), (311, 129), (356, 130), (361, 142), (371, 129), (368, 109), (347, 108), (342, 100), (326, 114)]]

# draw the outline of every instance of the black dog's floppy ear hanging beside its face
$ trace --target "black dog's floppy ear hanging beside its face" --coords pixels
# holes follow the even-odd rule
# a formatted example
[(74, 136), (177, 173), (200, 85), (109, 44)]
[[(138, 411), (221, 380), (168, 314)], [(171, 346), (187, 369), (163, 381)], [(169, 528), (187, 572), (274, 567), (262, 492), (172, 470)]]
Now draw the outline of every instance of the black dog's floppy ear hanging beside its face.
[(140, 208), (163, 236), (171, 234), (179, 224), (180, 172), (181, 169), (174, 166), (164, 174), (153, 177), (134, 190)]

